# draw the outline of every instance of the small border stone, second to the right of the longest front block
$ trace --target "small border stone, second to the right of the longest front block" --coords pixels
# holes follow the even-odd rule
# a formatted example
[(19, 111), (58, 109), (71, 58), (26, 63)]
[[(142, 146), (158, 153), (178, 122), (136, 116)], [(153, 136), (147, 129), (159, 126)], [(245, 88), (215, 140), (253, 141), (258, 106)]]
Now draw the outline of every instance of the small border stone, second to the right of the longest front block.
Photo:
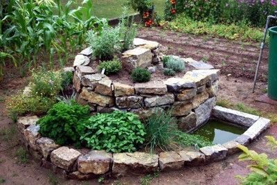
[(181, 150), (178, 154), (184, 159), (185, 166), (203, 166), (205, 164), (205, 155), (202, 152)]

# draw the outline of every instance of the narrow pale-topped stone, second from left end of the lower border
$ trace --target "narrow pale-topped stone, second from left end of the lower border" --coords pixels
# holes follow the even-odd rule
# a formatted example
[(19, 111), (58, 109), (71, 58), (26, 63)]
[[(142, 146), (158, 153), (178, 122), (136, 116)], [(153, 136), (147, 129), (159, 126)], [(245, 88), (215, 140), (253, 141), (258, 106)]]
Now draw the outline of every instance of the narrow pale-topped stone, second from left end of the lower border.
[(30, 125), (24, 130), (24, 136), (30, 148), (37, 150), (35, 141), (39, 139), (39, 125)]

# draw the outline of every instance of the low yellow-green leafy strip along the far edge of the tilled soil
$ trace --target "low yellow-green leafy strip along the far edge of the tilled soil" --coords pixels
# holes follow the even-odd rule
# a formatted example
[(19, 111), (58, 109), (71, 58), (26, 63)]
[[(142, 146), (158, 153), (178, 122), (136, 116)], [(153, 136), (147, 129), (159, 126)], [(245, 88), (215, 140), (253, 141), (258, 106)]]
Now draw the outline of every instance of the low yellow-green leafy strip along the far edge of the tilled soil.
[(222, 37), (229, 40), (244, 42), (260, 42), (263, 32), (260, 28), (253, 28), (244, 22), (238, 24), (213, 24), (205, 21), (194, 21), (185, 15), (178, 15), (176, 19), (162, 24), (163, 28), (190, 33), (193, 35), (208, 35)]

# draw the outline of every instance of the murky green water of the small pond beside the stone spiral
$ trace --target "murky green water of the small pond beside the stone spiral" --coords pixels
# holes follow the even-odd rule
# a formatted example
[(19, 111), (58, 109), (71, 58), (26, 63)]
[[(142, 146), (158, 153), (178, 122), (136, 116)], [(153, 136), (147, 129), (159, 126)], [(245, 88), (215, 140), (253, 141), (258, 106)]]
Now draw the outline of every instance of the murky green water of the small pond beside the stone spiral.
[(232, 141), (243, 134), (247, 129), (244, 127), (239, 127), (237, 125), (232, 125), (231, 123), (226, 123), (224, 121), (218, 121), (211, 119), (199, 127), (193, 134), (198, 134), (204, 136), (208, 141), (213, 142), (213, 144), (222, 144), (228, 141)]

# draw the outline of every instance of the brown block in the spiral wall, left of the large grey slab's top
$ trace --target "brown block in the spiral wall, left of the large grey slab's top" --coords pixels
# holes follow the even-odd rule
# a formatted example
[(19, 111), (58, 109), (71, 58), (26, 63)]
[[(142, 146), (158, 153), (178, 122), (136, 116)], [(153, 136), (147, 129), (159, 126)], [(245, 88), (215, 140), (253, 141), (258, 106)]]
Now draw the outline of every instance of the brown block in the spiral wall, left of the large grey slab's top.
[(190, 114), (191, 109), (193, 109), (193, 104), (189, 101), (179, 101), (172, 105), (172, 115), (173, 116), (186, 116)]

